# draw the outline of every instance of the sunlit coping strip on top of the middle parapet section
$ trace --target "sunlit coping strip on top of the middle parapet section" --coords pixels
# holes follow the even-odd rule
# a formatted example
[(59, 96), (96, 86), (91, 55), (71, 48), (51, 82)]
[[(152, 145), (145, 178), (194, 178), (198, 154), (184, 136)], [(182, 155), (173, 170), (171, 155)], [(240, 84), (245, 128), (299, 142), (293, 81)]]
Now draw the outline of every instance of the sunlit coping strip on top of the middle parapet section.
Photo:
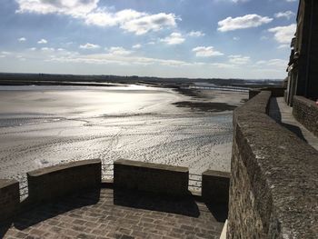
[(114, 164), (122, 164), (122, 165), (128, 165), (133, 167), (143, 167), (143, 168), (151, 168), (151, 169), (160, 169), (160, 170), (180, 172), (180, 173), (189, 172), (189, 169), (187, 167), (174, 166), (174, 165), (168, 165), (168, 164), (146, 163), (146, 162), (140, 162), (140, 161), (125, 160), (125, 159), (119, 159), (117, 161), (114, 161)]

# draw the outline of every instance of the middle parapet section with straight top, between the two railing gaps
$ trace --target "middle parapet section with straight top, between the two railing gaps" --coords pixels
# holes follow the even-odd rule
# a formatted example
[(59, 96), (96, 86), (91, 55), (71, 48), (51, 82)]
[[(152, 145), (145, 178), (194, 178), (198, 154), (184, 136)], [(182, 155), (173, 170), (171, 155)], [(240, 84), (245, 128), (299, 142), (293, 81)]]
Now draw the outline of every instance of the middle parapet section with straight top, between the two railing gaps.
[(182, 196), (188, 194), (189, 169), (130, 160), (114, 162), (114, 187)]

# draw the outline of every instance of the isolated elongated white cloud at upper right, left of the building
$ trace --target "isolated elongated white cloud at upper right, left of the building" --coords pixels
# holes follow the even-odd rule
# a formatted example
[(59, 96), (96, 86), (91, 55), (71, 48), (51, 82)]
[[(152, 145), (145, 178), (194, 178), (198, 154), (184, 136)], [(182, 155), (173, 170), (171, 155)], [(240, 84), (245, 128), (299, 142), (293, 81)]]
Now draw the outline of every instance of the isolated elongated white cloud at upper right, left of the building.
[(237, 29), (257, 27), (263, 24), (268, 24), (273, 21), (273, 18), (261, 15), (243, 15), (239, 17), (229, 16), (218, 22), (220, 32), (234, 31)]

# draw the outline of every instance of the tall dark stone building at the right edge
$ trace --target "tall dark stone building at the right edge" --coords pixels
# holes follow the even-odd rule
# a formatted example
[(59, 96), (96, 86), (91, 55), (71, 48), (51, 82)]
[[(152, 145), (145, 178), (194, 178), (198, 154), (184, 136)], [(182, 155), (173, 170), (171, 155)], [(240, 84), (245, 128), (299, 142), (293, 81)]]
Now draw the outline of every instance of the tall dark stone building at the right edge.
[(318, 1), (300, 0), (297, 30), (292, 40), (288, 65), (286, 101), (293, 105), (293, 95), (318, 99)]

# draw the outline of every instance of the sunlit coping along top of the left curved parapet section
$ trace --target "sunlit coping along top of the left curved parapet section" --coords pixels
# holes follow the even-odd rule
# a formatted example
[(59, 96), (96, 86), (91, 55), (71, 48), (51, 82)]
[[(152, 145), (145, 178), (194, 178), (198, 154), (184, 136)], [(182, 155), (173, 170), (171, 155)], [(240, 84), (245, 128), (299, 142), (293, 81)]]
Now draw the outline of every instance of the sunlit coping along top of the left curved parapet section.
[(44, 174), (52, 174), (61, 170), (89, 165), (89, 164), (98, 164), (101, 163), (100, 159), (89, 159), (89, 160), (81, 160), (81, 161), (75, 161), (67, 164), (57, 164), (54, 166), (49, 166), (45, 168), (36, 169), (34, 171), (30, 171), (27, 174), (30, 176), (40, 176)]

